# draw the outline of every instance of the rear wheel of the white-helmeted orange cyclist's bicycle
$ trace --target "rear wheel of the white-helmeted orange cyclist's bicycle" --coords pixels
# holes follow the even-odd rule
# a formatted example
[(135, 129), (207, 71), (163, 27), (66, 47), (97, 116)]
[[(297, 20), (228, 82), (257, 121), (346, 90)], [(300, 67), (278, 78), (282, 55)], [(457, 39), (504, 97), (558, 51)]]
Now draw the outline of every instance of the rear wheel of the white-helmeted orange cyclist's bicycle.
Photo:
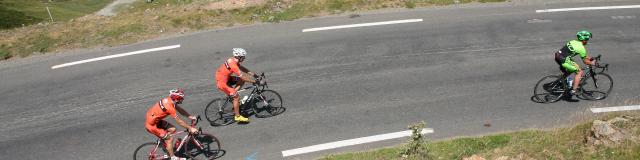
[(228, 99), (214, 99), (204, 109), (204, 115), (211, 126), (226, 126), (234, 123), (233, 103)]

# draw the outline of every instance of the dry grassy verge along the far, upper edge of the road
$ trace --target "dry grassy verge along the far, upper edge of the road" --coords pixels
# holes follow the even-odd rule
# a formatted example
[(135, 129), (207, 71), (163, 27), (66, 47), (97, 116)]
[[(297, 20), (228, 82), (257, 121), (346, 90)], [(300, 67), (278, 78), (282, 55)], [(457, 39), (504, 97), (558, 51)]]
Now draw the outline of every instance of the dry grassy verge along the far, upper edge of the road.
[[(34, 6), (13, 5), (19, 4), (18, 2), (27, 3), (22, 0), (1, 1), (4, 7), (2, 9), (10, 10), (7, 12), (3, 10), (1, 13), (22, 17), (12, 20), (14, 22), (11, 23), (32, 24), (36, 21), (43, 23), (0, 30), (0, 36), (3, 37), (0, 40), (0, 60), (76, 48), (131, 44), (160, 36), (235, 25), (290, 21), (304, 17), (348, 14), (348, 12), (355, 15), (353, 14), (355, 11), (383, 8), (418, 8), (504, 0), (256, 0), (252, 1), (256, 2), (255, 4), (229, 3), (236, 5), (235, 7), (219, 6), (225, 5), (224, 2), (230, 2), (230, 0), (154, 0), (153, 3), (140, 0), (129, 6), (121, 6), (120, 13), (114, 17), (91, 14), (74, 18), (81, 13), (96, 11), (95, 8), (104, 6), (105, 1), (98, 0), (99, 3), (91, 3), (96, 1), (61, 0), (55, 1), (56, 4), (50, 3), (50, 7), (73, 6), (75, 9), (68, 10), (80, 10), (62, 14), (64, 12), (53, 9), (52, 12), (55, 15), (66, 15), (61, 18), (54, 17), (56, 20), (54, 23), (42, 20), (41, 1), (29, 1), (34, 3)], [(27, 12), (27, 10), (34, 10), (34, 12)], [(48, 18), (48, 15), (46, 17)]]

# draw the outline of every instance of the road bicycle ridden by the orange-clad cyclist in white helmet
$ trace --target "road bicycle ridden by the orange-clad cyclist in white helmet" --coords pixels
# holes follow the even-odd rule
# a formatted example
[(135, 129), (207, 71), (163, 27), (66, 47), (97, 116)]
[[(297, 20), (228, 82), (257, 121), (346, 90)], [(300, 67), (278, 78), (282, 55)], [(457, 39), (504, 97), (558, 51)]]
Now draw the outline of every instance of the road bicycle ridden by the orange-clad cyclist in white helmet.
[[(245, 117), (255, 115), (258, 118), (266, 118), (284, 112), (286, 109), (282, 107), (282, 97), (278, 92), (268, 89), (269, 85), (266, 83), (264, 73), (261, 73), (256, 80), (264, 83), (252, 84), (238, 91), (238, 95), (251, 91), (249, 94), (239, 96), (241, 97), (239, 101), (240, 114)], [(212, 126), (225, 126), (234, 123), (233, 97), (228, 96), (211, 101), (204, 112)]]

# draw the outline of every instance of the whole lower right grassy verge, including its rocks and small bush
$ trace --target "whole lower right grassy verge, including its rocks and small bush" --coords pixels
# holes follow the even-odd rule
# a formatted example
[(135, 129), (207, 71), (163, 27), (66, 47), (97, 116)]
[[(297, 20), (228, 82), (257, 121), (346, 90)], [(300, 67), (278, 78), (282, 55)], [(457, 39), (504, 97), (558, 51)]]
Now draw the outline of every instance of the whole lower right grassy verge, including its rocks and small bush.
[[(598, 119), (602, 121), (589, 121), (571, 128), (526, 130), (423, 143), (424, 151), (419, 153), (427, 153), (426, 156), (407, 156), (407, 146), (413, 146), (409, 141), (403, 146), (329, 155), (321, 159), (640, 159), (640, 112), (616, 113)], [(597, 129), (602, 127), (597, 122), (611, 126), (603, 132), (624, 137), (599, 135)]]

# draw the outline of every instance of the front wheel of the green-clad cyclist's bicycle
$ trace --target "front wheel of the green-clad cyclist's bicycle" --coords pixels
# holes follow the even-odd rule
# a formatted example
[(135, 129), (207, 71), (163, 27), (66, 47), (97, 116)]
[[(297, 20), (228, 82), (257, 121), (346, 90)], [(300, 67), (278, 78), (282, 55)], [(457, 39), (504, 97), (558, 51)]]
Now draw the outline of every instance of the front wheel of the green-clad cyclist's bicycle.
[(586, 77), (582, 82), (582, 97), (587, 100), (602, 100), (607, 98), (613, 89), (613, 79), (606, 73), (596, 73), (593, 76), (596, 80), (595, 82), (591, 77)]

